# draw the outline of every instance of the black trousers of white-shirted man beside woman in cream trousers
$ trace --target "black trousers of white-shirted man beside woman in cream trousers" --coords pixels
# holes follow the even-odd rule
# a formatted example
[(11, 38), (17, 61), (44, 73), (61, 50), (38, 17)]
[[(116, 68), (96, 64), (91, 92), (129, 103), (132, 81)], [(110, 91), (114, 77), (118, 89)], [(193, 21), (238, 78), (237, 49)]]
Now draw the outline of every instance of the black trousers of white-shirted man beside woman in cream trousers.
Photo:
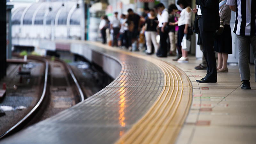
[(159, 28), (159, 35), (160, 35), (160, 47), (158, 49), (157, 55), (161, 57), (167, 57), (167, 38), (168, 38), (168, 31), (161, 31)]

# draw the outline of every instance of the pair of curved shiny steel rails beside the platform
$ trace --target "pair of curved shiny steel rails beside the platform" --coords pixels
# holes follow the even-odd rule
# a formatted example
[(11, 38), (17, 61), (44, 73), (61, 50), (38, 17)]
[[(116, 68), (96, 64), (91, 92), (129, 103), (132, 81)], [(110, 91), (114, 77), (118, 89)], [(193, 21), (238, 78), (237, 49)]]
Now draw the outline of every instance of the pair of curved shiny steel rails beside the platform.
[[(13, 54), (13, 56), (15, 57), (20, 57), (19, 54)], [(26, 127), (28, 125), (34, 124), (40, 120), (45, 119), (42, 118), (42, 115), (44, 114), (44, 111), (46, 111), (46, 108), (49, 105), (49, 100), (51, 92), (50, 92), (50, 88), (51, 83), (49, 82), (51, 80), (51, 75), (50, 75), (50, 69), (51, 69), (51, 58), (50, 57), (39, 57), (39, 56), (28, 56), (28, 59), (32, 59), (32, 60), (38, 60), (41, 61), (42, 63), (44, 63), (44, 78), (41, 82), (42, 88), (40, 89), (39, 93), (39, 100), (36, 103), (36, 105), (34, 106), (34, 108), (26, 115), (24, 116), (17, 124), (15, 124), (14, 126), (12, 126), (9, 130), (7, 130), (6, 132), (4, 132), (2, 135), (0, 135), (0, 139), (14, 133), (14, 132), (18, 132), (19, 130), (21, 130), (23, 127)], [(67, 63), (65, 63), (62, 60), (56, 59), (54, 61), (57, 61), (58, 63), (62, 64), (65, 72), (67, 74), (67, 78), (68, 78), (68, 82), (69, 82), (69, 86), (71, 87), (70, 89), (72, 90), (72, 92), (74, 92), (74, 96), (75, 96), (75, 101), (76, 103), (83, 101), (84, 100), (84, 94), (76, 80), (75, 75), (73, 74), (71, 68), (69, 67), (69, 65)], [(41, 118), (40, 118), (41, 117)], [(49, 117), (49, 115), (48, 115)]]

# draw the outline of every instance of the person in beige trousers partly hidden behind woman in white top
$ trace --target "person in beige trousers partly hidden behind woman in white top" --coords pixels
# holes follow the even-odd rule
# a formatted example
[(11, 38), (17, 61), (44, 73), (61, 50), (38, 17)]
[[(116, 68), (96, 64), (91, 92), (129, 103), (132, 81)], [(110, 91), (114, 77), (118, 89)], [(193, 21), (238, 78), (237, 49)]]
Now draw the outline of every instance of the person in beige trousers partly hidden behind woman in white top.
[[(176, 54), (176, 45), (177, 45), (177, 39), (178, 39), (178, 21), (180, 18), (180, 10), (176, 7), (175, 4), (171, 4), (168, 8), (168, 11), (174, 15), (174, 25), (175, 25), (175, 32), (169, 32), (169, 38), (170, 38), (170, 43), (171, 43), (171, 50), (170, 50), (170, 55), (173, 56)], [(182, 56), (181, 49), (177, 47), (178, 49), (178, 54), (177, 57), (173, 60), (178, 60)]]

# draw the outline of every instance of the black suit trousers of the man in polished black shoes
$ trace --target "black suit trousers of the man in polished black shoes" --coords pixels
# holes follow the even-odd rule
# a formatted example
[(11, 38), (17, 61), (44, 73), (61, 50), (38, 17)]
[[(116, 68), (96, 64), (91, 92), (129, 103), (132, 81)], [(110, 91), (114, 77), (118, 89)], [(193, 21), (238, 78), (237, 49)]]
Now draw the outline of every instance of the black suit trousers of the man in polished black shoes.
[(217, 66), (216, 58), (214, 53), (214, 31), (205, 31), (203, 30), (203, 21), (202, 18), (198, 20), (198, 27), (200, 30), (200, 37), (203, 43), (203, 53), (204, 58), (207, 62), (207, 75), (206, 78), (217, 79)]

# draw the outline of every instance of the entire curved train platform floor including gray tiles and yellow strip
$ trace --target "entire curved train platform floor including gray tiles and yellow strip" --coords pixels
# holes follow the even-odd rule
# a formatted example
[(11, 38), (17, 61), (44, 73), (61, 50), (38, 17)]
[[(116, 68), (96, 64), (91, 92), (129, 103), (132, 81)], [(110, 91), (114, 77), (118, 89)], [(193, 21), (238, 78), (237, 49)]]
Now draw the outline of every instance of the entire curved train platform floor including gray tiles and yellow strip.
[(114, 71), (115, 80), (83, 102), (0, 143), (255, 143), (254, 65), (250, 66), (252, 90), (241, 90), (237, 64), (228, 65), (228, 73), (218, 73), (217, 83), (197, 83), (206, 70), (194, 69), (202, 61), (194, 56), (188, 63), (177, 63), (173, 57), (95, 42), (70, 45), (80, 48), (77, 54), (97, 58), (95, 63)]

